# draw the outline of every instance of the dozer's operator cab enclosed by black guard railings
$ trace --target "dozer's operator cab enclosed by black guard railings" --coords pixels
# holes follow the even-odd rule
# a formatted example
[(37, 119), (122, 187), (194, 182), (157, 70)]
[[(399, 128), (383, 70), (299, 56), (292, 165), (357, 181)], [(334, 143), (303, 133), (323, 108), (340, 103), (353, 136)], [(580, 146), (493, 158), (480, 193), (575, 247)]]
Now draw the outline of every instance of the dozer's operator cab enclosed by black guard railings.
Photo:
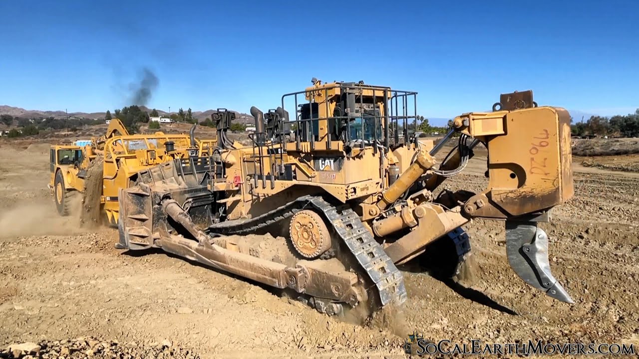
[(404, 142), (399, 140), (410, 126), (417, 127), (415, 92), (362, 81), (325, 84), (312, 79), (312, 83), (312, 88), (282, 96), (282, 107), (295, 103), (297, 116), (291, 125), (296, 126), (298, 142), (325, 141), (331, 148), (329, 142), (339, 141), (346, 148), (388, 150)]

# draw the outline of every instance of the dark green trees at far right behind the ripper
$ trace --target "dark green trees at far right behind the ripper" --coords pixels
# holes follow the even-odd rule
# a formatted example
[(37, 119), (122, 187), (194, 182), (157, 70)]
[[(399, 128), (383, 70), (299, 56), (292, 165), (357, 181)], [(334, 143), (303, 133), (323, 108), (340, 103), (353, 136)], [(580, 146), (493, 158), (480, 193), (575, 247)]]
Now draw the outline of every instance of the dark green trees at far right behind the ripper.
[(573, 136), (613, 136), (613, 137), (639, 137), (639, 109), (634, 114), (626, 116), (617, 115), (611, 118), (602, 116), (590, 116), (586, 122), (577, 122), (571, 125)]

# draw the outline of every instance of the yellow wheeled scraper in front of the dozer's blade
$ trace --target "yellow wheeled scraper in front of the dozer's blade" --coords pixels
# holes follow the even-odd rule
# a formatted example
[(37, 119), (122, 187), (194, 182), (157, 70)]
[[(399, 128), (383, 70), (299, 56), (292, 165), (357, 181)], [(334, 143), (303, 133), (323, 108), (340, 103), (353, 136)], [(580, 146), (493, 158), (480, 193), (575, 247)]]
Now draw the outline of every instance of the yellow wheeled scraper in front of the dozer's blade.
[(73, 204), (83, 203), (83, 220), (117, 225), (118, 191), (134, 185), (140, 171), (178, 158), (208, 155), (216, 147), (215, 139), (195, 139), (194, 130), (195, 126), (190, 134), (130, 135), (119, 119), (112, 119), (102, 137), (51, 146), (48, 187), (58, 213), (75, 215), (73, 210), (80, 206), (72, 208)]

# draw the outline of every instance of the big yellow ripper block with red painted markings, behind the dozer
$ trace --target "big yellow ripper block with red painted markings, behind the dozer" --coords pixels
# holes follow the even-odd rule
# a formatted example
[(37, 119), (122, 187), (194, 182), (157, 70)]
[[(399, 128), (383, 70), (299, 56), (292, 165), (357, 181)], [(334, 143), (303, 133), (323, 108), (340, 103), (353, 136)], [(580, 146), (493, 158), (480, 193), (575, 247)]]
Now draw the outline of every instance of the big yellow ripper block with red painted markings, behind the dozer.
[(570, 116), (537, 107), (505, 117), (505, 135), (488, 139), (491, 201), (510, 215), (561, 204), (573, 195)]

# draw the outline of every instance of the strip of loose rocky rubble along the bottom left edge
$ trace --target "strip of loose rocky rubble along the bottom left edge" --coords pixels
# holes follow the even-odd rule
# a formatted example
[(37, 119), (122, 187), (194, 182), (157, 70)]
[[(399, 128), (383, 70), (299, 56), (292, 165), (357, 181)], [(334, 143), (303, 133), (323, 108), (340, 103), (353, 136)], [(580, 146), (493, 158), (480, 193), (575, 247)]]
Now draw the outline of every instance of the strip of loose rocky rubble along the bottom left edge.
[(185, 358), (200, 356), (186, 349), (173, 348), (169, 340), (161, 343), (138, 345), (135, 342), (119, 344), (117, 341), (81, 337), (74, 340), (26, 342), (10, 344), (0, 350), (0, 358)]

